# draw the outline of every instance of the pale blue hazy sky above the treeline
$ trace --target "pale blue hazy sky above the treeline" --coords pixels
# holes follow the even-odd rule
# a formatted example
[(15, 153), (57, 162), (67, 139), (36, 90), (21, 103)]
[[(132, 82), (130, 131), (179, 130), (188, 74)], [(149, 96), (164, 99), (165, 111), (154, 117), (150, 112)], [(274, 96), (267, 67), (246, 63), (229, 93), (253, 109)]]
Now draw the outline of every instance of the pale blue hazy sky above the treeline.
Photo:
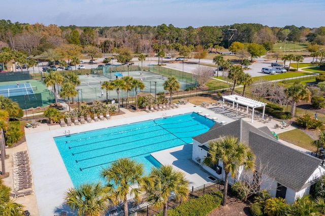
[(6, 0), (0, 19), (58, 26), (325, 26), (324, 0)]

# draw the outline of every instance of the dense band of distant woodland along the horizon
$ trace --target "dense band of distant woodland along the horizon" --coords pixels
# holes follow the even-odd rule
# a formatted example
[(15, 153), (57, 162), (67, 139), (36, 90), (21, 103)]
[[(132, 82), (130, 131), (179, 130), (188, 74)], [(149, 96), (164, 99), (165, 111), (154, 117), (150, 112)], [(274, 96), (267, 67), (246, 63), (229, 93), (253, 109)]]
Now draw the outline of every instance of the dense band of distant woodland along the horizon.
[(157, 44), (166, 47), (198, 46), (205, 49), (228, 48), (232, 42), (263, 44), (266, 42), (301, 42), (325, 45), (325, 26), (318, 28), (269, 27), (256, 23), (233, 24), (231, 26), (202, 26), (178, 28), (172, 24), (157, 26), (114, 26), (78, 27), (45, 26), (40, 23), (12, 23), (0, 20), (0, 46), (24, 51), (29, 55), (54, 49), (62, 44), (93, 45), (102, 52), (111, 53), (115, 49), (128, 47), (132, 52), (149, 53)]

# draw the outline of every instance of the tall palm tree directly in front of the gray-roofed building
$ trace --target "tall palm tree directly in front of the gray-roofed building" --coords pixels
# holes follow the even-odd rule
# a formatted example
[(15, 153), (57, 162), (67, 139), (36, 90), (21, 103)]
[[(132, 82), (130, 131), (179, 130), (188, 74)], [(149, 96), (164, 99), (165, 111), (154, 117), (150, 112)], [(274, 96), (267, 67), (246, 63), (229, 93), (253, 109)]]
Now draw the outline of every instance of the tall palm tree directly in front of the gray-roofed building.
[(222, 161), (225, 174), (222, 205), (226, 205), (229, 173), (231, 173), (232, 177), (235, 177), (238, 169), (242, 166), (244, 169), (252, 169), (255, 156), (245, 143), (240, 142), (237, 137), (231, 135), (210, 141), (208, 153), (208, 156), (203, 161), (205, 165), (217, 165), (219, 159)]

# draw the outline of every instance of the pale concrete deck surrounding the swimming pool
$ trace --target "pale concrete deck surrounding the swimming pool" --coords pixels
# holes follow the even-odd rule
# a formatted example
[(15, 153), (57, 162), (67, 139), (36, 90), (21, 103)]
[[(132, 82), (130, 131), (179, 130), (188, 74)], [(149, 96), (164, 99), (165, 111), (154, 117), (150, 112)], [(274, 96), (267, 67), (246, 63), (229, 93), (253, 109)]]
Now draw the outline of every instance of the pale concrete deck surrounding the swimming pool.
[[(56, 148), (53, 137), (62, 136), (65, 133), (79, 133), (89, 130), (101, 129), (106, 127), (118, 126), (123, 124), (130, 124), (140, 121), (162, 118), (164, 116), (175, 116), (190, 112), (200, 113), (206, 118), (217, 118), (217, 122), (232, 122), (230, 119), (213, 110), (206, 109), (202, 106), (195, 106), (191, 103), (180, 105), (177, 109), (164, 110), (158, 112), (147, 113), (129, 112), (128, 110), (121, 109), (125, 114), (112, 116), (109, 120), (100, 122), (87, 123), (84, 125), (60, 127), (59, 125), (48, 126), (41, 124), (38, 128), (25, 129), (26, 143), (28, 154), (30, 158), (30, 166), (32, 170), (32, 177), (34, 181), (34, 189), (36, 195), (20, 197), (17, 200), (23, 203), (31, 213), (31, 208), (38, 208), (32, 215), (57, 215), (61, 210), (67, 210), (69, 215), (74, 215), (69, 212), (69, 208), (64, 206), (63, 197), (64, 193), (73, 187), (68, 171), (61, 159), (61, 156)], [(249, 118), (245, 118), (248, 122)], [(274, 121), (274, 120), (272, 120)], [(277, 122), (278, 123), (278, 122)], [(254, 126), (268, 126), (270, 129), (275, 124), (270, 122), (267, 124), (254, 122)], [(259, 126), (259, 124), (261, 124)], [(294, 129), (292, 126), (290, 129)], [(276, 133), (281, 132), (280, 129), (272, 129)], [(279, 131), (277, 131), (279, 130)], [(282, 129), (284, 132), (284, 129)], [(287, 145), (290, 145), (288, 143)], [(304, 149), (299, 149), (306, 151)], [(19, 150), (18, 150), (19, 151)], [(17, 151), (15, 151), (17, 152)], [(8, 153), (7, 153), (8, 154)], [(12, 153), (11, 153), (12, 154)], [(174, 167), (181, 169), (185, 172), (186, 177), (190, 181), (190, 187), (198, 187), (210, 182), (207, 177), (209, 173), (204, 171), (200, 166), (191, 161), (191, 145), (175, 147), (172, 149), (153, 153), (161, 164), (171, 164)], [(6, 165), (7, 166), (7, 165)], [(11, 165), (12, 167), (12, 165)], [(9, 177), (10, 178), (10, 177)], [(7, 181), (7, 180), (6, 180)], [(12, 185), (11, 185), (12, 187)], [(37, 202), (27, 201), (35, 199)], [(21, 201), (20, 201), (21, 200)], [(27, 204), (29, 203), (29, 204)]]

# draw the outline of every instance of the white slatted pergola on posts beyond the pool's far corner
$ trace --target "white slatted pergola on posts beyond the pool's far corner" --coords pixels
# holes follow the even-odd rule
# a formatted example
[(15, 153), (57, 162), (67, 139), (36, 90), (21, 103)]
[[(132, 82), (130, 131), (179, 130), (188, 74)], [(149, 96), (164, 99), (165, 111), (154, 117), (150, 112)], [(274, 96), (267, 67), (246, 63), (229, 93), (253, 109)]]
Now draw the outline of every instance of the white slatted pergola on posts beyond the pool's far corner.
[(248, 113), (248, 107), (251, 107), (252, 109), (252, 121), (254, 119), (254, 110), (257, 107), (262, 107), (263, 106), (263, 114), (262, 114), (262, 119), (264, 119), (264, 114), (265, 114), (265, 106), (267, 103), (258, 101), (258, 100), (253, 100), (247, 97), (243, 97), (240, 95), (232, 94), (228, 96), (222, 96), (222, 111), (224, 109), (224, 100), (228, 100), (233, 102), (233, 109), (235, 108), (236, 104), (236, 116), (238, 115), (238, 104), (246, 106), (246, 113)]

